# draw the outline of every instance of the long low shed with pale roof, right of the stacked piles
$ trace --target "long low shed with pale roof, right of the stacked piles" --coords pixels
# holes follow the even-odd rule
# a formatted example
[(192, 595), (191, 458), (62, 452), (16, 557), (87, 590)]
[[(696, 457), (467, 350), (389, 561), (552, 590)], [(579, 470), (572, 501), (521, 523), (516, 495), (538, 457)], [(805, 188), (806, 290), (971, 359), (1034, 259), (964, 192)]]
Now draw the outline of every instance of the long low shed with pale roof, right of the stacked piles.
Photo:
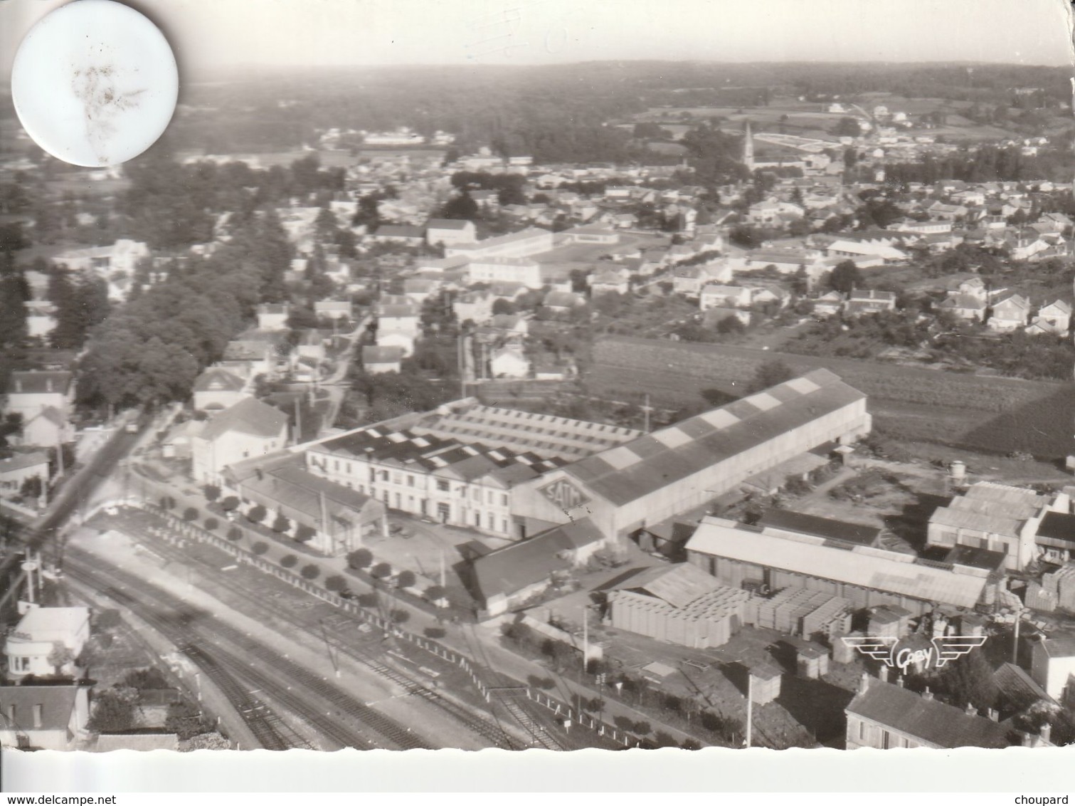
[(689, 563), (734, 588), (804, 589), (847, 599), (854, 608), (895, 605), (913, 616), (937, 604), (986, 603), (998, 579), (986, 568), (722, 518), (703, 519), (686, 548)]

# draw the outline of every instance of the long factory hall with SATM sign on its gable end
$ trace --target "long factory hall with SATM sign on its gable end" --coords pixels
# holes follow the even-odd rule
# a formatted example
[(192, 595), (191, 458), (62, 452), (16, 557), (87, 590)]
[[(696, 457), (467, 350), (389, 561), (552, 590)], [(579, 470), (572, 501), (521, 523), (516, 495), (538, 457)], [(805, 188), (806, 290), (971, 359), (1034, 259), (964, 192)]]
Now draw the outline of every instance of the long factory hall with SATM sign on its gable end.
[(818, 369), (517, 484), (512, 514), (524, 538), (587, 517), (626, 536), (870, 425), (865, 395)]

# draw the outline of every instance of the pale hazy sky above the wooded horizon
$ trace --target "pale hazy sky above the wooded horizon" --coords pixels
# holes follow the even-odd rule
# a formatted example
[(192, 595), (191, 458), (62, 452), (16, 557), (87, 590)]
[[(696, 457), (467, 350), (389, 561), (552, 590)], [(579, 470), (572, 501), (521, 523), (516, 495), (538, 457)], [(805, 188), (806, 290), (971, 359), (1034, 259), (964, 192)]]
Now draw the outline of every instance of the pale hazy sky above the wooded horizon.
[[(0, 71), (62, 0), (0, 2)], [(603, 59), (1071, 65), (1065, 0), (130, 0), (190, 73)], [(186, 72), (185, 71), (185, 72)]]

